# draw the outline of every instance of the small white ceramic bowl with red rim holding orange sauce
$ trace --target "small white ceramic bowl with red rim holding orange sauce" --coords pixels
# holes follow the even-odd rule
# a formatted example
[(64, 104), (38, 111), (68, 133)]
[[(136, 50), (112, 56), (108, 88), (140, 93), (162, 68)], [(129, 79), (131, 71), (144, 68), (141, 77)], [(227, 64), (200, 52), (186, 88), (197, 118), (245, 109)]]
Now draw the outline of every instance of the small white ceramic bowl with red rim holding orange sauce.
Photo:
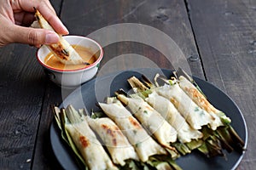
[(49, 54), (49, 49), (42, 46), (37, 52), (38, 62), (44, 67), (46, 75), (52, 82), (55, 82), (61, 88), (77, 88), (80, 84), (89, 81), (96, 75), (99, 64), (103, 57), (103, 49), (97, 42), (88, 37), (65, 36), (64, 38), (72, 45), (76, 44), (84, 48), (89, 48), (94, 54), (99, 52), (96, 53), (96, 61), (91, 65), (84, 66), (82, 69), (56, 69), (44, 64), (44, 59)]

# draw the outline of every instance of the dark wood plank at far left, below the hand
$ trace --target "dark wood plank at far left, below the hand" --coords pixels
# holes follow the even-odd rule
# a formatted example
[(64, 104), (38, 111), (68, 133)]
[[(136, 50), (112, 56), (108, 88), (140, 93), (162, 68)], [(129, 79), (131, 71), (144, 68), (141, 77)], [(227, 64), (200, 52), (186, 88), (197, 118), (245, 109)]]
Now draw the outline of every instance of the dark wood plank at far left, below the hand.
[(35, 48), (12, 44), (0, 52), (0, 169), (29, 169), (44, 96)]

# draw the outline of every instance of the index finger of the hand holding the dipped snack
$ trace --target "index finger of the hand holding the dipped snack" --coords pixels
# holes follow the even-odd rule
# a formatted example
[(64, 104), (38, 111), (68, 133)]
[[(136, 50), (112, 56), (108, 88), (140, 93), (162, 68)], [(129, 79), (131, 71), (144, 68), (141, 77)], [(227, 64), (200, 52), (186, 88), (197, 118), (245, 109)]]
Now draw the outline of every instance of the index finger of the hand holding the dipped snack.
[(61, 35), (67, 35), (68, 31), (61, 20), (55, 14), (55, 9), (51, 6), (48, 0), (20, 0), (20, 8), (28, 12), (34, 12), (34, 8), (38, 8), (39, 12), (44, 16), (45, 20)]

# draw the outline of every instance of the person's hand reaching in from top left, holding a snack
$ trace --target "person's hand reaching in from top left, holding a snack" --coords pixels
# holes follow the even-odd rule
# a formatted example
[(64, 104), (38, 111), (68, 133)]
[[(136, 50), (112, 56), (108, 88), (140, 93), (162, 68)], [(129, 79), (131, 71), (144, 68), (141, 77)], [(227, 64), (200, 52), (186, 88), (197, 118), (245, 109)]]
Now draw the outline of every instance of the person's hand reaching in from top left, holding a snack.
[(54, 31), (26, 27), (35, 20), (34, 8), (39, 10), (57, 33), (68, 34), (49, 0), (0, 0), (0, 47), (13, 42), (39, 47), (59, 41)]

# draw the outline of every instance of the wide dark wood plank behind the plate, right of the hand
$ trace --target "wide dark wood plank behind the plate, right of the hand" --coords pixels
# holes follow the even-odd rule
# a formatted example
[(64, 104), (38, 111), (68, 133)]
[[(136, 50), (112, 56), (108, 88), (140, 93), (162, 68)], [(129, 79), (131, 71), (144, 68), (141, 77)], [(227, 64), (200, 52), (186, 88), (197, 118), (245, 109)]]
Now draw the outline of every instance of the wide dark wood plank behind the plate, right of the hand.
[[(78, 5), (79, 4), (79, 5)], [(125, 27), (123, 31), (119, 31), (116, 35), (96, 35), (95, 32), (99, 31), (106, 26), (113, 26), (119, 23), (137, 23), (146, 26), (153, 26), (155, 29), (164, 32), (168, 37), (171, 37), (184, 54), (184, 58), (189, 56), (198, 56), (193, 33), (189, 25), (188, 14), (183, 1), (177, 0), (148, 0), (148, 1), (64, 1), (61, 13), (61, 20), (66, 24), (70, 33), (73, 35), (84, 35), (96, 39), (101, 44), (106, 44), (104, 47), (105, 55), (102, 60), (102, 65), (105, 65), (110, 59), (117, 59), (122, 54), (139, 54), (151, 59), (158, 67), (172, 68), (169, 56), (161, 54), (160, 48), (168, 48), (169, 44), (165, 44), (163, 39), (154, 39), (158, 42), (160, 48), (154, 49), (150, 47), (150, 43), (143, 44), (137, 42), (116, 42), (110, 44), (113, 38), (122, 40), (127, 37), (127, 31), (130, 27)], [(73, 12), (75, 11), (75, 12)], [(100, 31), (102, 32), (102, 31)], [(143, 34), (144, 33), (144, 34)], [(143, 34), (143, 35), (142, 35)], [(151, 34), (151, 35), (150, 35)], [(113, 37), (116, 36), (116, 37)], [(130, 35), (128, 35), (129, 37)], [(152, 41), (152, 32), (134, 31), (131, 37), (142, 37)], [(171, 53), (173, 54), (173, 52)], [(132, 56), (131, 56), (132, 58)], [(136, 56), (133, 56), (132, 61)], [(110, 65), (108, 71), (116, 71), (133, 67), (135, 63), (143, 63), (137, 59), (138, 62), (125, 63), (124, 60), (115, 61), (116, 65)], [(185, 60), (185, 59), (184, 59)], [(112, 60), (113, 61), (113, 60)], [(144, 63), (143, 63), (144, 64)], [(140, 67), (146, 65), (140, 64)], [(138, 64), (139, 65), (139, 64)], [(201, 60), (189, 62), (191, 70), (194, 75), (203, 77), (201, 69)], [(108, 72), (107, 71), (107, 72)], [(106, 70), (104, 71), (106, 72)]]

